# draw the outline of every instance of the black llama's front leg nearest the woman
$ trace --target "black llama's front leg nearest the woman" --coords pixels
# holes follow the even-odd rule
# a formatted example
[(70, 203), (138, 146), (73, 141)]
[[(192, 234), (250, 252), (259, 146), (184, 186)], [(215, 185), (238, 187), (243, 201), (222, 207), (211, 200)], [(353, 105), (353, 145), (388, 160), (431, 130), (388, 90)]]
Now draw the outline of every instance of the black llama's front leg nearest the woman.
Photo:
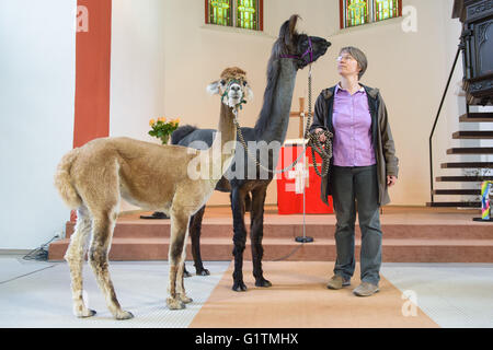
[(250, 241), (252, 243), (253, 277), (255, 277), (256, 287), (272, 287), (272, 283), (264, 279), (262, 271), (262, 257), (264, 255), (262, 238), (264, 236), (264, 203), (266, 191), (266, 186), (262, 186), (252, 191)]

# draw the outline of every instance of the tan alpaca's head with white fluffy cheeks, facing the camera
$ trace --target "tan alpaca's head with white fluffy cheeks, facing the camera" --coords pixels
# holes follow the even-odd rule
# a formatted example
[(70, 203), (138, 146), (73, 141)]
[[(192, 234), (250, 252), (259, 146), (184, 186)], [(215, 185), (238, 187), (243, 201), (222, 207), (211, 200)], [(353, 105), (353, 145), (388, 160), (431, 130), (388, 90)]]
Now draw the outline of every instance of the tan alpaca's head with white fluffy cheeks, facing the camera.
[(252, 89), (246, 81), (246, 72), (238, 67), (225, 69), (220, 79), (211, 82), (207, 91), (210, 94), (221, 95), (221, 102), (231, 108), (245, 103), (245, 98), (253, 98)]

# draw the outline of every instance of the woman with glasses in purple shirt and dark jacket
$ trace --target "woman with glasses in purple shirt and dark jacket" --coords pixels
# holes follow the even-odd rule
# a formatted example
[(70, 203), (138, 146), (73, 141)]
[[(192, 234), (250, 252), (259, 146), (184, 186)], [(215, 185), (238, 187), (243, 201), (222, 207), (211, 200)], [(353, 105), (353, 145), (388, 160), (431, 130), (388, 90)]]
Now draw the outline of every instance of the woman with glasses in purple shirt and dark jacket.
[[(322, 178), (322, 200), (333, 198), (336, 215), (336, 261), (328, 288), (351, 284), (355, 269), (354, 228), (356, 208), (362, 230), (362, 284), (353, 292), (369, 296), (378, 292), (381, 265), (380, 206), (390, 199), (387, 188), (397, 182), (399, 160), (378, 89), (359, 83), (367, 69), (365, 54), (344, 47), (337, 58), (341, 82), (322, 91), (317, 100), (311, 132), (321, 142), (333, 133), (333, 156), (328, 176)], [(356, 206), (357, 203), (357, 206)]]

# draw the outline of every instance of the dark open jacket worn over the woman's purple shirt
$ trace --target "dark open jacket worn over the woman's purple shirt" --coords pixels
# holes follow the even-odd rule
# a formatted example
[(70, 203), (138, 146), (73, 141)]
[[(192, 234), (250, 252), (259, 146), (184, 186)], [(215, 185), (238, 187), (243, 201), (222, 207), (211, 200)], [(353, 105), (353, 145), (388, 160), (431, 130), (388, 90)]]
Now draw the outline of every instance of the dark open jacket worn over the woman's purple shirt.
[[(398, 176), (399, 159), (395, 156), (392, 132), (387, 116), (387, 108), (378, 89), (372, 89), (360, 84), (368, 96), (368, 106), (371, 115), (371, 140), (375, 147), (375, 158), (377, 160), (378, 173), (378, 203), (385, 206), (390, 202), (387, 191), (387, 175)], [(334, 133), (332, 125), (332, 112), (334, 106), (335, 85), (323, 90), (316, 102), (313, 124), (310, 132), (317, 128), (322, 128)], [(322, 178), (321, 197), (329, 206), (328, 196), (332, 195), (331, 173), (333, 158), (331, 159), (329, 174)]]

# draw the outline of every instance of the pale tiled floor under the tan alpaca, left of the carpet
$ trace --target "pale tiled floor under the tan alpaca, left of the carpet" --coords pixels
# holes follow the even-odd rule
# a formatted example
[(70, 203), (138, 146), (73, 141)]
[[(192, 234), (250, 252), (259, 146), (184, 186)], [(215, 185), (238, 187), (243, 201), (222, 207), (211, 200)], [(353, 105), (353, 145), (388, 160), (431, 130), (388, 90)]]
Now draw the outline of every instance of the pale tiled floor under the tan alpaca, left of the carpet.
[[(77, 318), (71, 311), (70, 276), (66, 262), (32, 262), (21, 258), (0, 258), (0, 327), (62, 328), (185, 328), (219, 282), (229, 262), (208, 262), (207, 278), (186, 279), (194, 300), (185, 310), (170, 311), (165, 305), (168, 262), (114, 262), (110, 271), (116, 295), (124, 310), (136, 317), (126, 322), (112, 318), (90, 267), (85, 264), (84, 299), (95, 317)], [(9, 269), (5, 273), (4, 270)], [(19, 276), (13, 279), (13, 270)], [(26, 275), (32, 272), (30, 275)], [(4, 279), (7, 277), (7, 279)]]

